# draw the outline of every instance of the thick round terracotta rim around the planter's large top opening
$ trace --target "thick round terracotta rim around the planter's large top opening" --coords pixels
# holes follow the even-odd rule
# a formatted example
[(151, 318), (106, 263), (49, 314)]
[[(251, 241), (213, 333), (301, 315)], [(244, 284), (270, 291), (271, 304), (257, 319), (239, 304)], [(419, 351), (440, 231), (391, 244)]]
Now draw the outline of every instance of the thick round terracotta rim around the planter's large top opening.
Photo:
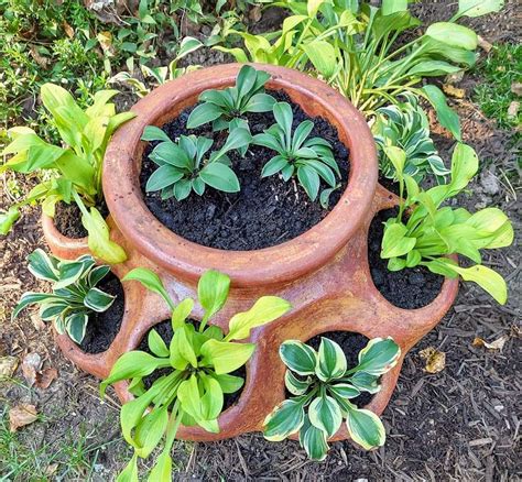
[[(139, 175), (146, 125), (162, 125), (194, 105), (209, 88), (233, 85), (240, 64), (208, 67), (172, 80), (141, 99), (137, 117), (112, 138), (104, 163), (104, 193), (122, 234), (151, 261), (192, 283), (208, 269), (230, 275), (236, 287), (293, 281), (326, 264), (368, 217), (377, 187), (373, 136), (363, 116), (325, 83), (285, 67), (251, 64), (271, 74), (269, 89), (284, 90), (313, 116), (326, 117), (350, 151), (348, 185), (334, 209), (316, 226), (284, 243), (252, 251), (207, 248), (175, 234), (143, 201)], [(317, 113), (319, 112), (319, 113)]]

